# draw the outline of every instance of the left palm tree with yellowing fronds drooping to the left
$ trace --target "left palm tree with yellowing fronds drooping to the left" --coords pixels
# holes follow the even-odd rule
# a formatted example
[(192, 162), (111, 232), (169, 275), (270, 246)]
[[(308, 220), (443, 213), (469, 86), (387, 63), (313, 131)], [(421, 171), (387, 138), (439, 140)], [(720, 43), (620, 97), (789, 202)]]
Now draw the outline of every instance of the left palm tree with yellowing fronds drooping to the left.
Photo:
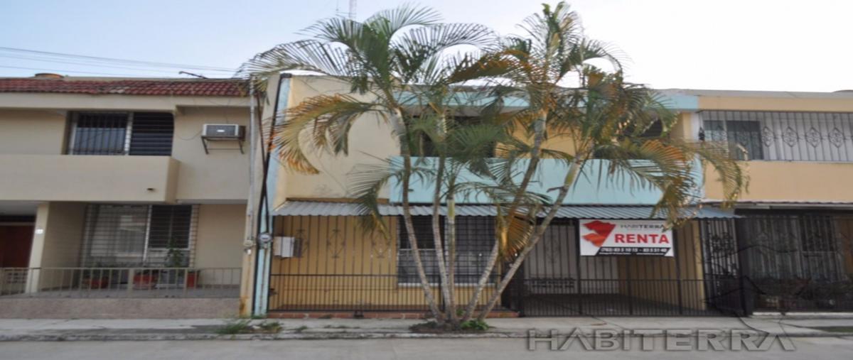
[[(485, 49), (495, 44), (493, 32), (485, 26), (439, 21), (432, 9), (412, 6), (380, 11), (362, 22), (320, 20), (306, 29), (312, 38), (278, 45), (247, 61), (241, 73), (259, 79), (261, 84), (265, 78), (287, 70), (321, 73), (350, 84), (350, 94), (314, 96), (287, 110), (287, 122), (274, 130), (273, 145), (279, 149), (279, 157), (297, 171), (317, 173), (305, 156), (305, 148), (346, 154), (352, 123), (375, 113), (391, 126), (403, 160), (402, 169), (387, 177), (400, 177), (403, 189), (409, 189), (410, 177), (416, 172), (411, 154), (416, 142), (411, 128), (420, 119), (416, 114), (432, 111), (438, 115), (436, 125), (444, 126), (438, 125), (444, 122), (443, 114), (433, 110), (444, 108), (443, 103), (450, 100), (450, 85), (479, 78), (488, 70), (473, 61), (473, 51), (464, 49)], [(457, 47), (461, 50), (451, 53)], [(309, 128), (310, 144), (305, 144), (303, 131)], [(404, 226), (421, 287), (430, 311), (441, 319), (418, 251), (408, 192), (403, 191), (402, 200)], [(366, 209), (371, 208), (375, 210), (375, 203), (366, 205)], [(383, 227), (381, 222), (373, 224)], [(440, 248), (439, 243), (436, 251)], [(446, 289), (446, 267), (439, 264), (439, 268)], [(448, 293), (443, 295), (446, 301)]]

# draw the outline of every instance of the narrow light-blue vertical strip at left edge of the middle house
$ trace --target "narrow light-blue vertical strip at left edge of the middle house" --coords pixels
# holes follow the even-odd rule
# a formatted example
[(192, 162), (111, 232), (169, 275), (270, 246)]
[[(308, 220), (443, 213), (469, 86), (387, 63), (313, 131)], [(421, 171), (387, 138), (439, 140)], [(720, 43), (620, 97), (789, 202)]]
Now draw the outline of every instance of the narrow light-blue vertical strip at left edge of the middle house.
[[(280, 166), (276, 165), (275, 168), (270, 169), (270, 162), (273, 156), (271, 144), (274, 138), (273, 136), (275, 136), (273, 131), (274, 126), (279, 124), (281, 121), (281, 117), (279, 117), (278, 114), (279, 108), (287, 108), (287, 98), (290, 90), (289, 78), (290, 74), (287, 73), (282, 73), (279, 77), (278, 89), (276, 89), (276, 97), (273, 101), (273, 112), (270, 115), (273, 119), (273, 121), (270, 122), (270, 139), (269, 142), (266, 142), (270, 144), (270, 148), (261, 149), (263, 182), (261, 183), (261, 197), (260, 202), (258, 203), (258, 239), (260, 239), (261, 235), (271, 236), (273, 231), (275, 231), (273, 226), (273, 216), (270, 213), (270, 203), (276, 200), (278, 170)], [(258, 125), (263, 125), (263, 120), (260, 120)], [(258, 139), (261, 140), (261, 146), (264, 147), (265, 142), (261, 138), (263, 136), (263, 132), (259, 133), (257, 136)], [(271, 241), (258, 241), (256, 261), (258, 266), (255, 271), (255, 305), (254, 310), (252, 311), (254, 315), (265, 315), (269, 310), (270, 267), (272, 264), (272, 253), (270, 251), (271, 246)]]

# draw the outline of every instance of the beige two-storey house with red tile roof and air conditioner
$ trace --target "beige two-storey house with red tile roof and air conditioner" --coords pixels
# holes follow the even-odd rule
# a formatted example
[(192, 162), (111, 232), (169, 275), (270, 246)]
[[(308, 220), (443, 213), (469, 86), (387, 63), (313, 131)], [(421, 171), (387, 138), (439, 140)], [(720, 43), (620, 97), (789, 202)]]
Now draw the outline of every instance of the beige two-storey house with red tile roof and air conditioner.
[(235, 315), (249, 106), (239, 79), (0, 78), (0, 317)]

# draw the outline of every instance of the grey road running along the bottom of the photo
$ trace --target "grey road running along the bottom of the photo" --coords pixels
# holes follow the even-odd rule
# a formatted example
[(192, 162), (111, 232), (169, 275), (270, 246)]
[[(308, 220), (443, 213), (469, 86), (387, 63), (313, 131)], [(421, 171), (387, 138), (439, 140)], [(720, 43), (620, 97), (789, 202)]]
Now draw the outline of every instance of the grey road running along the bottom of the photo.
[(663, 340), (653, 344), (656, 350), (642, 351), (639, 339), (629, 351), (584, 351), (578, 344), (569, 351), (548, 351), (547, 344), (529, 351), (522, 339), (6, 342), (0, 359), (853, 359), (853, 338), (793, 339), (794, 351), (779, 343), (769, 351), (665, 351)]

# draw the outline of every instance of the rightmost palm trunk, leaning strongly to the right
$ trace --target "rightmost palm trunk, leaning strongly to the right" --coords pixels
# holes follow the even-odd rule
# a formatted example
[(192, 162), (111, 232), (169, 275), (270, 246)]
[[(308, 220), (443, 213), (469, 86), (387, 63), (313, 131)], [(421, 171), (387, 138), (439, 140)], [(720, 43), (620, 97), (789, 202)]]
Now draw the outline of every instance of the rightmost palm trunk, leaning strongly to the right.
[(572, 165), (569, 167), (569, 171), (566, 173), (566, 178), (563, 181), (563, 186), (560, 187), (560, 194), (557, 195), (557, 198), (554, 200), (554, 204), (552, 204), (551, 209), (543, 219), (542, 224), (537, 226), (537, 230), (533, 234), (533, 237), (527, 246), (525, 246), (524, 250), (519, 253), (519, 256), (513, 260), (513, 263), (509, 265), (507, 273), (503, 276), (501, 282), (497, 284), (495, 293), (492, 293), (489, 301), (485, 305), (485, 308), (479, 316), (477, 316), (479, 320), (485, 319), (485, 316), (488, 316), (495, 305), (497, 305), (497, 300), (501, 299), (501, 293), (503, 293), (503, 290), (507, 288), (509, 281), (513, 279), (515, 272), (519, 270), (521, 264), (524, 263), (525, 258), (527, 258), (527, 254), (529, 254), (531, 250), (533, 250), (533, 247), (536, 247), (537, 242), (542, 239), (542, 236), (545, 234), (545, 230), (548, 229), (548, 225), (551, 224), (551, 220), (554, 219), (557, 215), (557, 211), (560, 210), (563, 200), (566, 200), (566, 195), (569, 193), (569, 189), (572, 189), (572, 185), (575, 183), (575, 179), (577, 178), (577, 172), (580, 170), (584, 160), (585, 156), (583, 159), (576, 157), (575, 160), (572, 161)]

